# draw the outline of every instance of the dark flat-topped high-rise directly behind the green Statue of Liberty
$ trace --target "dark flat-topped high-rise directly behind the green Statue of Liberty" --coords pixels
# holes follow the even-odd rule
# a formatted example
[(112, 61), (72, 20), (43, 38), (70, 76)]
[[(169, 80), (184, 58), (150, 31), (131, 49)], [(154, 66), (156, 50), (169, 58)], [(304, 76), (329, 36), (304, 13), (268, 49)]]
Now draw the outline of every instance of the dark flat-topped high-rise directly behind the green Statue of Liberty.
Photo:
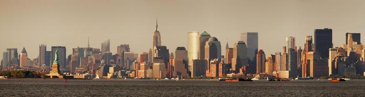
[(57, 46), (57, 47), (51, 47), (52, 49), (52, 59), (51, 60), (55, 60), (55, 53), (56, 50), (58, 49), (58, 63), (61, 66), (62, 69), (66, 68), (66, 47), (62, 47), (62, 46)]

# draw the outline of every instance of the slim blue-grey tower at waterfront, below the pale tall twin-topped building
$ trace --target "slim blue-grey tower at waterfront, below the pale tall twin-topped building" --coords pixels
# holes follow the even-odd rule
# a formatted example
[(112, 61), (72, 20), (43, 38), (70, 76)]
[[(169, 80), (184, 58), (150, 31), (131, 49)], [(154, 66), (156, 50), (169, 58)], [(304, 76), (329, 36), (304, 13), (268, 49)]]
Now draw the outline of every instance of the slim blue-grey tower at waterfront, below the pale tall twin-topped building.
[(286, 70), (289, 71), (289, 77), (295, 78), (298, 75), (298, 55), (295, 49), (288, 49)]

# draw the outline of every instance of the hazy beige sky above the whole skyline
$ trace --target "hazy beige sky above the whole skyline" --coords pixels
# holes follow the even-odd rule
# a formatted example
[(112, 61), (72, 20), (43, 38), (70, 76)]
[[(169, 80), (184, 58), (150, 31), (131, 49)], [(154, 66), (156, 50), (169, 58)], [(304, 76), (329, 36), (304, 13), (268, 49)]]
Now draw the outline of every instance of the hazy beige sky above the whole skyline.
[(331, 28), (336, 47), (345, 32), (365, 32), (365, 0), (0, 0), (0, 58), (6, 48), (22, 47), (37, 58), (40, 44), (66, 46), (71, 54), (87, 46), (88, 35), (93, 48), (110, 39), (113, 53), (129, 44), (140, 54), (152, 46), (156, 16), (170, 52), (187, 46), (190, 31), (207, 31), (223, 49), (241, 32), (259, 32), (266, 54), (281, 51), (286, 36), (303, 47), (314, 29)]

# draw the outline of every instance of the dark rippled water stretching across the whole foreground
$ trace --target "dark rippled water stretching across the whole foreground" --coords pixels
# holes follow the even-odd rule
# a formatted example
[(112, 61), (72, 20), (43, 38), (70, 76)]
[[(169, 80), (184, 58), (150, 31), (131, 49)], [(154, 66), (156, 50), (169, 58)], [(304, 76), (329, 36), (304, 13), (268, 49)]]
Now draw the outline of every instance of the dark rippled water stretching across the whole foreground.
[[(279, 86), (281, 84), (281, 86)], [(12, 97), (365, 97), (365, 80), (155, 81), (0, 80), (0, 96)]]

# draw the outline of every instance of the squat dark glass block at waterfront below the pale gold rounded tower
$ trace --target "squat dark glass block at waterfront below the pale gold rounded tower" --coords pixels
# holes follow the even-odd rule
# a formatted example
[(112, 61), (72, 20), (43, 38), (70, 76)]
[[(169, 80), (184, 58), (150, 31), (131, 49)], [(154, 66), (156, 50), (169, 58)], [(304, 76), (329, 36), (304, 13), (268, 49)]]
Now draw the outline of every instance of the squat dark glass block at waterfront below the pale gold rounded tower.
[(205, 76), (205, 70), (207, 69), (208, 61), (205, 59), (194, 59), (193, 67), (191, 70), (191, 77)]

